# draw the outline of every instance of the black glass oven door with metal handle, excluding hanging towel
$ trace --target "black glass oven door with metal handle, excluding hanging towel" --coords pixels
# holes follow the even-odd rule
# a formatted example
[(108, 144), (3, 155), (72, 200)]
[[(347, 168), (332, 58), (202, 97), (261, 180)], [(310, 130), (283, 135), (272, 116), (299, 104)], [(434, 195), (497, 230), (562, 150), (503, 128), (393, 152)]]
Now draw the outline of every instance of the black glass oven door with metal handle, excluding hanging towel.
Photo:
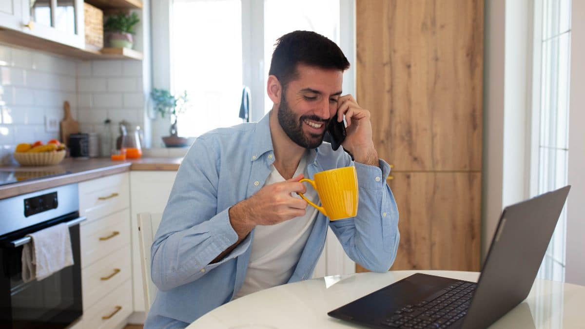
[[(0, 327), (65, 328), (82, 314), (79, 223), (77, 212), (0, 238)], [(31, 232), (67, 222), (73, 249), (73, 266), (46, 279), (22, 281), (22, 245)]]

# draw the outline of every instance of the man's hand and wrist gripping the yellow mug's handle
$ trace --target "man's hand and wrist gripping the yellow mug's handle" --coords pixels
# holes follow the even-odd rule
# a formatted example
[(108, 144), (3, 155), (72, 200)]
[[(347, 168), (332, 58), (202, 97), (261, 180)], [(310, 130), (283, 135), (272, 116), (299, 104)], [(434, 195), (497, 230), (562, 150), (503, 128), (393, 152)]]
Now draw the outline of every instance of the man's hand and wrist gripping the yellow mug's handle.
[(291, 193), (307, 191), (299, 183), (303, 178), (304, 175), (300, 174), (289, 180), (264, 186), (252, 197), (230, 208), (230, 222), (238, 237), (245, 238), (256, 225), (274, 225), (304, 216), (307, 201), (291, 196)]

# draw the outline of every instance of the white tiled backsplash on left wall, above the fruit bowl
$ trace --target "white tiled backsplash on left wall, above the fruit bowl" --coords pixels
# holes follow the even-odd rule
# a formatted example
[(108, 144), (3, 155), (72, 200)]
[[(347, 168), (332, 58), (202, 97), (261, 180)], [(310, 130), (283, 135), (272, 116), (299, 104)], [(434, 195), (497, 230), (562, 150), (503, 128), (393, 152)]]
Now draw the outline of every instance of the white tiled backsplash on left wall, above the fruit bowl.
[(18, 143), (47, 142), (45, 116), (63, 118), (69, 101), (77, 116), (76, 61), (0, 44), (0, 165), (13, 163)]

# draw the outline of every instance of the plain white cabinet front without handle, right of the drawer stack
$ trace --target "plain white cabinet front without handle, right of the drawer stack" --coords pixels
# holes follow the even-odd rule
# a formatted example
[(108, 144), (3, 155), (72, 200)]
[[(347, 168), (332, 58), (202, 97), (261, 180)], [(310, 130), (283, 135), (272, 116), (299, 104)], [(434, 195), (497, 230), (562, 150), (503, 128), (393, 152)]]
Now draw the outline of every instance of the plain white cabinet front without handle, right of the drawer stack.
[(163, 213), (171, 194), (177, 172), (133, 171), (130, 172), (130, 214), (132, 216), (132, 280), (134, 310), (144, 312), (142, 270), (138, 242), (139, 213)]

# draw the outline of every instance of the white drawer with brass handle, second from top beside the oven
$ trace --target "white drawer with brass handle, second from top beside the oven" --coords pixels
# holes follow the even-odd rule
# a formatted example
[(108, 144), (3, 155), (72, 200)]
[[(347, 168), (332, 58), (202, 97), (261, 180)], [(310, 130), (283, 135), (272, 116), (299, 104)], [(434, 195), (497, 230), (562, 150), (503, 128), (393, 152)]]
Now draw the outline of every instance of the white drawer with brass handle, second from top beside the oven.
[(130, 210), (118, 211), (81, 227), (81, 267), (130, 244)]

